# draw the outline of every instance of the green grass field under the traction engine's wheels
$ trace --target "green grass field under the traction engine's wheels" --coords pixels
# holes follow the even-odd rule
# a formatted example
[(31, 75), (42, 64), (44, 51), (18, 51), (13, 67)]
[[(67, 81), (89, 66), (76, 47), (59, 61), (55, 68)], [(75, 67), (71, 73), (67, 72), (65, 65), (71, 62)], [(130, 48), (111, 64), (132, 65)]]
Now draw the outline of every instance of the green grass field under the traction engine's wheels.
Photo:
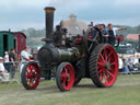
[(97, 89), (84, 79), (69, 92), (44, 81), (34, 91), (22, 84), (0, 84), (0, 105), (140, 105), (140, 75), (119, 75), (113, 88)]

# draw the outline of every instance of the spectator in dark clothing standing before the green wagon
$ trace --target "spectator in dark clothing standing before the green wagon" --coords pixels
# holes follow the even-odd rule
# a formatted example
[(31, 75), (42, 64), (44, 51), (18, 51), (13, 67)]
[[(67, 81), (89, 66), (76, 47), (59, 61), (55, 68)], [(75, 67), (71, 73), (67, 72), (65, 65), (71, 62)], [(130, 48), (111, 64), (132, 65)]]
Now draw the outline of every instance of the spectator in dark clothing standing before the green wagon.
[(11, 61), (11, 68), (10, 68), (10, 73), (11, 73), (11, 80), (14, 79), (15, 75), (15, 49), (11, 49), (9, 54), (9, 60)]

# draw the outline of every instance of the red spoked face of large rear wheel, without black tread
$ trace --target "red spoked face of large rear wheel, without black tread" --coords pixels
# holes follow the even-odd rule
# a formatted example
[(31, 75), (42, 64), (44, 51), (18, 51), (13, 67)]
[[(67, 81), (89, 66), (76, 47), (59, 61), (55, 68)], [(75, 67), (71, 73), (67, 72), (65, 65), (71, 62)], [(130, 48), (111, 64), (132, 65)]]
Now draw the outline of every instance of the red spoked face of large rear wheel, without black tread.
[(97, 74), (105, 86), (114, 84), (118, 74), (118, 57), (112, 46), (105, 46), (98, 56)]

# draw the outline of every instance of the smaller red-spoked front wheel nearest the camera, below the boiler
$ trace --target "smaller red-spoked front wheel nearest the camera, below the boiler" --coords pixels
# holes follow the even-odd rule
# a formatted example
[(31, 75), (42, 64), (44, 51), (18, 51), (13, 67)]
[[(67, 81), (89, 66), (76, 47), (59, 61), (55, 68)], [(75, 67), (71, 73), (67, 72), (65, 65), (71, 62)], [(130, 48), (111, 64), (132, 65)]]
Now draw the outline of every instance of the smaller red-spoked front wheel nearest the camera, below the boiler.
[(56, 74), (57, 86), (61, 92), (69, 91), (74, 83), (74, 69), (69, 62), (62, 62)]

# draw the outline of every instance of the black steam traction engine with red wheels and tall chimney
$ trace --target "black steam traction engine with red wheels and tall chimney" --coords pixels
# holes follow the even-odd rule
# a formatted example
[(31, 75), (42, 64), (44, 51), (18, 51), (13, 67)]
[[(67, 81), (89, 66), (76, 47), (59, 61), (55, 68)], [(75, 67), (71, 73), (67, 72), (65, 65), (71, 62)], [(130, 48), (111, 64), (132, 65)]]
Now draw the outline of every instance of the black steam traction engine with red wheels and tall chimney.
[[(118, 74), (118, 58), (113, 46), (104, 44), (97, 27), (71, 37), (67, 37), (67, 31), (59, 26), (52, 32), (54, 11), (54, 8), (45, 8), (46, 38), (43, 40), (46, 44), (38, 50), (39, 63), (31, 61), (23, 67), (23, 86), (36, 89), (40, 78), (50, 79), (52, 71), (62, 92), (77, 85), (82, 78), (92, 79), (97, 88), (112, 86)], [(54, 38), (58, 39), (57, 44)]]

